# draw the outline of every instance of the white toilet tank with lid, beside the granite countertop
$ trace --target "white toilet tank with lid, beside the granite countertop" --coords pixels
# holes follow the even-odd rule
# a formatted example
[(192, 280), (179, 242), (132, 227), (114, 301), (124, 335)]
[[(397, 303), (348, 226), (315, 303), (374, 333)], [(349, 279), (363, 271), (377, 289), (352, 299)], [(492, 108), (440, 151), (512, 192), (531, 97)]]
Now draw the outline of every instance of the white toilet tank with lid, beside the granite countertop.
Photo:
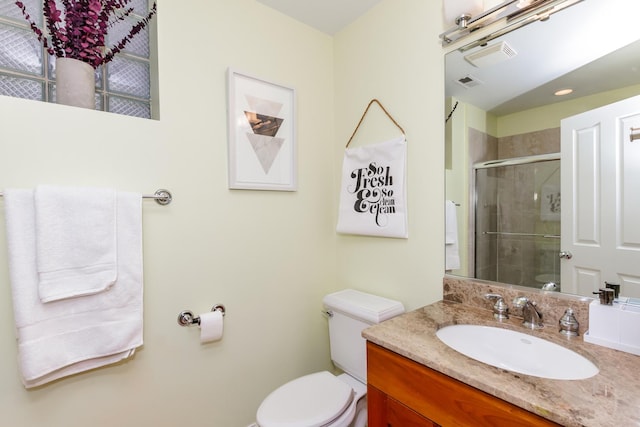
[(347, 374), (366, 384), (367, 343), (362, 330), (404, 313), (401, 302), (345, 289), (324, 297), (329, 316), (331, 360)]

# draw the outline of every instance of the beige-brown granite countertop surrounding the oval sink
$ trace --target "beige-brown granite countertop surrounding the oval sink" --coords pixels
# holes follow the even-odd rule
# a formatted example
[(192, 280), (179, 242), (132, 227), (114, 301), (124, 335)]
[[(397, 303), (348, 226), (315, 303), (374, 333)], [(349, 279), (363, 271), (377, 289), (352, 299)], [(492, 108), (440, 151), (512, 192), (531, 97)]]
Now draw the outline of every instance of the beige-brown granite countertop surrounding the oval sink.
[[(640, 426), (640, 357), (567, 338), (547, 326), (532, 331), (522, 319), (499, 322), (491, 310), (440, 301), (365, 329), (367, 340), (495, 397), (565, 426)], [(591, 360), (600, 373), (585, 380), (549, 380), (509, 372), (449, 348), (436, 331), (453, 324), (513, 329), (547, 339)], [(552, 360), (549, 363), (553, 363)]]

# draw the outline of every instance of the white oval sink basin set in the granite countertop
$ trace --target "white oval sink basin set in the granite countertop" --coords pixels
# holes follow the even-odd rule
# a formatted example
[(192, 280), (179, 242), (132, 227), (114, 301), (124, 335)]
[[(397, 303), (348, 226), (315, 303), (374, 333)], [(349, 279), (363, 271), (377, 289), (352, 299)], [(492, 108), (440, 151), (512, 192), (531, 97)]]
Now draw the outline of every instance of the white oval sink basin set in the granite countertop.
[(480, 325), (445, 326), (437, 337), (467, 357), (512, 372), (554, 380), (582, 380), (599, 370), (578, 353), (509, 329)]

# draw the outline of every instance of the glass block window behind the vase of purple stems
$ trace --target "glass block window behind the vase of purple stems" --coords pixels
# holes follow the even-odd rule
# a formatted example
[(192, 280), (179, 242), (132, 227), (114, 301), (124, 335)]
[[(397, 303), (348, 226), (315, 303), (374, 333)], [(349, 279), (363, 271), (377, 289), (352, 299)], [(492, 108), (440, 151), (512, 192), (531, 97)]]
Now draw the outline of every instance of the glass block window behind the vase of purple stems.
[[(31, 18), (43, 28), (43, 0), (22, 0)], [(122, 39), (133, 23), (148, 13), (152, 0), (133, 0), (129, 20), (118, 21), (107, 44)], [(135, 16), (134, 16), (135, 15)], [(155, 73), (151, 37), (154, 17), (112, 61), (96, 69), (96, 109), (141, 118), (157, 118), (152, 111), (151, 85)], [(55, 56), (49, 55), (29, 28), (15, 0), (0, 0), (0, 95), (56, 102)], [(157, 102), (155, 103), (157, 105)]]

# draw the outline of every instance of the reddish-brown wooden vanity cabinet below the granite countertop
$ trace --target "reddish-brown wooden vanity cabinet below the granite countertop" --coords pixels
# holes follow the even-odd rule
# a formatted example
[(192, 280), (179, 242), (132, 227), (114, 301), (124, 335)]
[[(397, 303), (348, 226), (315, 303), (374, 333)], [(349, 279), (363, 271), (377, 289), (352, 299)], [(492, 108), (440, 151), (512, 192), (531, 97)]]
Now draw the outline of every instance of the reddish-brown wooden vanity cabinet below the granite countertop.
[(558, 426), (367, 342), (369, 427)]

